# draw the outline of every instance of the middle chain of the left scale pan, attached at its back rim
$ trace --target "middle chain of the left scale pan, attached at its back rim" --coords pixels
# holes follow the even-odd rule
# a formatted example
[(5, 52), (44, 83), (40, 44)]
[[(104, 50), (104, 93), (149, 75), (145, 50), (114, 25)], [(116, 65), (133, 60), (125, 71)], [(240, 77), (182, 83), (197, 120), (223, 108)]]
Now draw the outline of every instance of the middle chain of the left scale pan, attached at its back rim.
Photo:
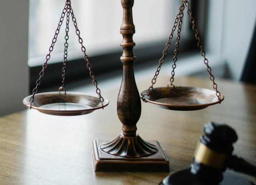
[(59, 92), (60, 92), (60, 90), (64, 90), (65, 94), (66, 94), (65, 78), (66, 78), (66, 71), (67, 71), (66, 70), (66, 65), (67, 65), (67, 62), (68, 62), (67, 57), (68, 57), (68, 46), (69, 46), (69, 44), (68, 44), (68, 39), (69, 39), (69, 15), (70, 15), (70, 9), (68, 7), (68, 9), (67, 9), (67, 16), (66, 16), (66, 18), (67, 18), (67, 20), (66, 20), (66, 29), (65, 29), (65, 31), (66, 31), (65, 41), (66, 42), (64, 43), (64, 46), (65, 46), (65, 48), (64, 48), (64, 60), (63, 60), (62, 75), (61, 75), (61, 79), (62, 79), (61, 83), (62, 83), (62, 85), (59, 88)]

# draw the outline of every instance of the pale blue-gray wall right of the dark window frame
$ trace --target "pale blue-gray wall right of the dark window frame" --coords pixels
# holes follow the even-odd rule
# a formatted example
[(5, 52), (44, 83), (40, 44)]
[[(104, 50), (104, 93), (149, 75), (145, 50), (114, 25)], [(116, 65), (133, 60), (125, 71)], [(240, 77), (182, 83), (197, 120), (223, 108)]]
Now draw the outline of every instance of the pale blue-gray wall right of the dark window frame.
[(209, 0), (206, 52), (219, 55), (236, 81), (241, 79), (251, 44), (255, 6), (255, 0)]

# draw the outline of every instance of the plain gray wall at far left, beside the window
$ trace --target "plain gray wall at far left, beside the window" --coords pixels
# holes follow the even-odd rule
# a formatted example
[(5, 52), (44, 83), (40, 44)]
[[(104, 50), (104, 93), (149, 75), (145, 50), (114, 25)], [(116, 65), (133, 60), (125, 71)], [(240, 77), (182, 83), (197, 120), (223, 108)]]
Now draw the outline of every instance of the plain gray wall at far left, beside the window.
[(29, 0), (0, 3), (0, 116), (25, 109)]

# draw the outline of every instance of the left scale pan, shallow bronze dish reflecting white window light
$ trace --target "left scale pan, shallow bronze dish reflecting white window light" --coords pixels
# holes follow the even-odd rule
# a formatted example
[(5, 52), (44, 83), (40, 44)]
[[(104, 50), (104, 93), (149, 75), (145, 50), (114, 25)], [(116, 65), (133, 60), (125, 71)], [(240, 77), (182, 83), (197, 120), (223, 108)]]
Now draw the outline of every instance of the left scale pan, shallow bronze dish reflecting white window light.
[[(27, 107), (30, 107), (30, 97), (31, 95), (23, 100)], [(109, 101), (107, 98), (103, 99), (105, 107)], [(68, 91), (65, 94), (62, 91), (35, 94), (31, 108), (50, 115), (74, 116), (92, 113), (96, 109), (101, 109), (102, 105), (98, 97)]]

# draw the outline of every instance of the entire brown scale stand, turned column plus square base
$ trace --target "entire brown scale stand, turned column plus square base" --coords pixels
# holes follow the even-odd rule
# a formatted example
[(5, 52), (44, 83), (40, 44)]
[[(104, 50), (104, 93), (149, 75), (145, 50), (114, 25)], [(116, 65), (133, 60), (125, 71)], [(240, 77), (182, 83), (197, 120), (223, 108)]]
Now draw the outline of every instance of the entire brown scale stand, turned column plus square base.
[(157, 141), (145, 142), (136, 134), (136, 123), (141, 114), (141, 100), (134, 77), (133, 54), (135, 43), (132, 35), (134, 0), (121, 0), (123, 22), (123, 78), (117, 98), (117, 115), (123, 124), (123, 133), (111, 141), (93, 141), (93, 165), (95, 171), (169, 171), (169, 161)]

